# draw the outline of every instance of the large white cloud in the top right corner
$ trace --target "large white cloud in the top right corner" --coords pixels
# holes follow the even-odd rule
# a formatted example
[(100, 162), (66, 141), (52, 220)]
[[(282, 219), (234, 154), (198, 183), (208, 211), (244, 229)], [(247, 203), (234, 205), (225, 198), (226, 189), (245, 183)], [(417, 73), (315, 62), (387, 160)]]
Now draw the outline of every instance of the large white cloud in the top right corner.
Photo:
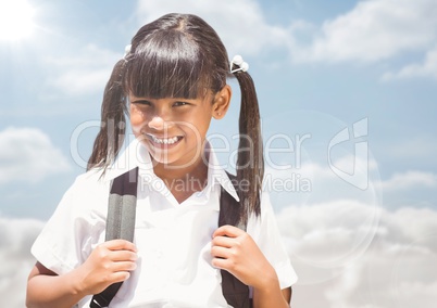
[(374, 62), (404, 51), (428, 49), (437, 38), (434, 0), (360, 1), (350, 12), (326, 21), (302, 62)]

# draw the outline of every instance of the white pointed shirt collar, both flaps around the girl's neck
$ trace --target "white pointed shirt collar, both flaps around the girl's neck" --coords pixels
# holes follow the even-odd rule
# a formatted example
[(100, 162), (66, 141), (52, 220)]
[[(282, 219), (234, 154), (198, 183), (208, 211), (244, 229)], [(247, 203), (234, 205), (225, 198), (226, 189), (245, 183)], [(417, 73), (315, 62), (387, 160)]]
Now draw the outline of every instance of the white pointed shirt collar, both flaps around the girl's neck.
[[(237, 202), (239, 202), (238, 194), (235, 190), (233, 181), (229, 179), (226, 171), (220, 164), (214, 150), (207, 141), (205, 151), (209, 152), (208, 157), (208, 184), (204, 192), (209, 195), (211, 189), (215, 184), (220, 184), (226, 192), (228, 192)], [(116, 177), (127, 172), (136, 167), (139, 167), (139, 176), (142, 179), (151, 181), (157, 178), (153, 172), (153, 163), (147, 149), (137, 140), (133, 140), (130, 144), (117, 156), (114, 164), (112, 164), (105, 175), (105, 180), (113, 180)]]

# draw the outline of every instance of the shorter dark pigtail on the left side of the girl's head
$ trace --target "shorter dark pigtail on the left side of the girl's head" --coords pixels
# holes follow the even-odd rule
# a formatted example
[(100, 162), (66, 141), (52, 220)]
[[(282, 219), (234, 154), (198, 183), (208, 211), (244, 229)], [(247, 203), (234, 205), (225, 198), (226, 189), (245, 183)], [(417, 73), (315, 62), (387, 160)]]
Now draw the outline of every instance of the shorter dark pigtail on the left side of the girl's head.
[(127, 113), (126, 95), (123, 87), (125, 60), (118, 61), (104, 88), (101, 107), (101, 127), (95, 140), (87, 169), (103, 168), (113, 162), (124, 142)]

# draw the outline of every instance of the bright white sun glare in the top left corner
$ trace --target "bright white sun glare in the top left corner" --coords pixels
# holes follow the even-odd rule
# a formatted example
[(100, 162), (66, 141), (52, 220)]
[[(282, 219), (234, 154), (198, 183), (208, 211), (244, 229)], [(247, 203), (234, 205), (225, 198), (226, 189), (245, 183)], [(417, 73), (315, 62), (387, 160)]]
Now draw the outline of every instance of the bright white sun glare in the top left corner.
[(34, 8), (26, 0), (0, 2), (0, 41), (20, 41), (34, 33)]

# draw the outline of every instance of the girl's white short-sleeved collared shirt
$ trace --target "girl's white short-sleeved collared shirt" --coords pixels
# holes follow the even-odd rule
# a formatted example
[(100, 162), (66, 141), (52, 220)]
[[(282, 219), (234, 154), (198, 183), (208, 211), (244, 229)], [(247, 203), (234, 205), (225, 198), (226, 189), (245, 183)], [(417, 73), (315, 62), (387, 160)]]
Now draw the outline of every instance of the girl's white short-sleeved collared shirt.
[[(212, 234), (217, 228), (221, 187), (238, 200), (232, 182), (211, 151), (207, 187), (179, 204), (153, 174), (151, 164), (146, 149), (134, 141), (103, 177), (96, 170), (77, 177), (32, 253), (58, 274), (77, 268), (104, 242), (111, 180), (139, 167), (134, 239), (137, 269), (123, 283), (110, 307), (227, 307), (221, 272), (212, 267), (210, 252)], [(261, 217), (249, 219), (247, 232), (275, 268), (280, 287), (285, 288), (297, 281), (297, 275), (280, 242), (265, 193), (261, 204)], [(90, 299), (87, 296), (77, 306), (89, 307)]]

